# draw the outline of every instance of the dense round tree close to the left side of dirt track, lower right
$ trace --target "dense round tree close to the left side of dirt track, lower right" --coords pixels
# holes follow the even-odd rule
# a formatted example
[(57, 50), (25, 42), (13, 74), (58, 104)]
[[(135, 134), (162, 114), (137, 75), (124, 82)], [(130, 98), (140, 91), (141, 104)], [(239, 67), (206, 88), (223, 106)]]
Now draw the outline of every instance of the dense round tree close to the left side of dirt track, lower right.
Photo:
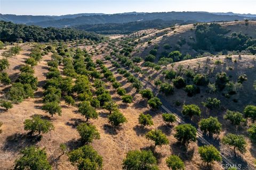
[(186, 145), (190, 142), (196, 141), (196, 133), (197, 130), (194, 126), (191, 124), (181, 124), (175, 127), (176, 133), (174, 134), (174, 137), (183, 143), (183, 145)]

